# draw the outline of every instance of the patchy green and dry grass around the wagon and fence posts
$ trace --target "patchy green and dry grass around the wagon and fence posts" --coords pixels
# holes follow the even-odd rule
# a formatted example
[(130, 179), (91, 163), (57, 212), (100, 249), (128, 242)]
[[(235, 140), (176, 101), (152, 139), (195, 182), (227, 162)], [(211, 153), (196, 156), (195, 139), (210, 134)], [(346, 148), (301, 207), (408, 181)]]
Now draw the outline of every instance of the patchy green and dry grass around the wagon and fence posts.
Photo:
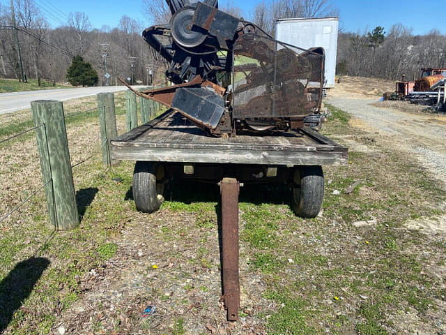
[[(82, 108), (90, 105), (94, 101), (87, 99)], [(116, 94), (116, 105), (122, 133), (123, 95)], [(352, 126), (348, 114), (329, 108), (333, 116), (324, 134), (352, 138), (374, 151), (351, 150), (348, 165), (324, 168), (323, 213), (314, 219), (294, 216), (284, 185), (240, 189), (243, 324), (225, 324), (217, 303), (217, 186), (176, 181), (167, 187), (160, 211), (140, 214), (128, 198), (132, 163), (104, 170), (98, 156), (74, 171), (83, 211), (79, 228), (53, 233), (47, 227), (43, 193), (0, 225), (0, 302), (9, 312), (0, 315), (0, 329), (5, 328), (5, 334), (47, 334), (75, 315), (89, 325), (88, 331), (79, 332), (96, 334), (107, 334), (113, 322), (118, 334), (206, 334), (221, 326), (226, 327), (222, 332), (240, 334), (382, 335), (404, 332), (403, 317), (408, 315), (411, 327), (435, 334), (436, 318), (445, 316), (446, 291), (438, 276), (446, 271), (445, 240), (407, 230), (404, 223), (444, 215), (445, 190), (408, 154), (392, 150), (384, 140), (371, 142), (372, 134)], [(79, 104), (67, 105), (66, 111), (78, 109)], [(8, 120), (3, 128), (26, 122), (26, 117)], [(89, 140), (85, 134), (91, 134), (95, 120), (86, 113), (68, 121), (73, 161), (88, 156), (93, 144), (82, 140)], [(8, 132), (3, 128), (0, 132)], [(20, 137), (0, 148), (6, 162), (0, 170), (6, 194), (2, 202), (15, 195), (8, 188), (22, 190), (27, 185), (15, 174), (26, 171), (26, 180), (40, 182), (38, 161), (32, 156), (21, 158), (23, 162), (13, 158), (21, 147), (24, 153), (31, 151), (32, 142), (31, 137)], [(361, 184), (346, 194), (356, 180)], [(334, 195), (335, 190), (340, 194)], [(370, 218), (376, 225), (352, 225)], [(141, 258), (139, 250), (144, 252)], [(28, 286), (14, 280), (26, 278), (24, 274), (36, 278), (26, 281)], [(116, 283), (128, 285), (137, 278), (144, 290), (130, 286), (132, 295), (110, 305), (111, 287), (116, 290)], [(8, 292), (20, 288), (25, 292), (12, 304)], [(125, 294), (126, 288), (118, 292)], [(70, 309), (89, 304), (91, 314)], [(139, 313), (147, 304), (155, 304), (159, 314), (142, 322)]]

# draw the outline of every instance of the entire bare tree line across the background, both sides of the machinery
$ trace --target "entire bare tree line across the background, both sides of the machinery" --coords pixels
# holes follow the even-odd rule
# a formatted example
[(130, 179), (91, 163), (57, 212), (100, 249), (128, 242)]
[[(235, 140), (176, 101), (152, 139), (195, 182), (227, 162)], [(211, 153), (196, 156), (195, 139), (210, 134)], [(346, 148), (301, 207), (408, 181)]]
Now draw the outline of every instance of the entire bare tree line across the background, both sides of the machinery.
[[(159, 69), (162, 78), (165, 64), (141, 37), (141, 31), (151, 24), (169, 22), (170, 13), (165, 0), (142, 0), (150, 24), (123, 15), (114, 28), (93, 29), (85, 13), (70, 13), (66, 23), (50, 27), (42, 10), (33, 0), (13, 0), (17, 32), (22, 51), (24, 73), (28, 78), (66, 80), (72, 59), (80, 55), (98, 71), (99, 84), (109, 84), (117, 78), (134, 77), (134, 82), (146, 83), (148, 65)], [(332, 0), (275, 0), (259, 1), (251, 13), (232, 0), (222, 10), (234, 16), (246, 16), (274, 36), (274, 22), (289, 17), (337, 16)], [(0, 77), (20, 78), (17, 46), (13, 36), (9, 6), (0, 3)], [(412, 29), (394, 24), (387, 31), (376, 27), (364, 33), (339, 31), (337, 73), (362, 77), (381, 77), (396, 80), (420, 74), (422, 67), (446, 66), (446, 36), (432, 30), (415, 35)]]

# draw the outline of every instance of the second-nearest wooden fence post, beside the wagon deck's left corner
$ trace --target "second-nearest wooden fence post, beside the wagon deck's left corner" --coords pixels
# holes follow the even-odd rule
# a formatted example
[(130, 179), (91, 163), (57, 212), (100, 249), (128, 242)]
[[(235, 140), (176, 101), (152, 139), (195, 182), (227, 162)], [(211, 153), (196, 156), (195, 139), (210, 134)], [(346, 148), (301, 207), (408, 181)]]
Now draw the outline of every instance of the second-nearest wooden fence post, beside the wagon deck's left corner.
[(98, 94), (100, 143), (102, 150), (102, 163), (112, 166), (112, 156), (110, 155), (110, 140), (118, 136), (116, 130), (116, 112), (114, 106), (113, 93)]

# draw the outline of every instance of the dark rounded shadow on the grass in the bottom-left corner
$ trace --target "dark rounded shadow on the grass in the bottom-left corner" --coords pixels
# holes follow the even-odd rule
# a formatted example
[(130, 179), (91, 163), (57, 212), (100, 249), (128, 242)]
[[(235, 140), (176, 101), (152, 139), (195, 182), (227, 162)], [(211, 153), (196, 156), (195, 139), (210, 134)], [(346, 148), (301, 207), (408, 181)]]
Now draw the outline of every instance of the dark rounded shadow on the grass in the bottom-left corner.
[(17, 263), (0, 282), (0, 334), (29, 297), (49, 263), (47, 258), (29, 258)]

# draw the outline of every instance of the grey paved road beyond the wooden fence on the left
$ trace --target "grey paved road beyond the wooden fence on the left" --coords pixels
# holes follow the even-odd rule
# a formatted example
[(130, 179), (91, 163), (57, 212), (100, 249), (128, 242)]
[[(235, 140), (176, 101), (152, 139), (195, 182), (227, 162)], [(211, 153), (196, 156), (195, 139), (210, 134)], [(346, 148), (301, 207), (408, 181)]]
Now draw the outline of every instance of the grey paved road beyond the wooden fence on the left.
[[(142, 87), (142, 86), (141, 86)], [(139, 88), (135, 86), (135, 88)], [(124, 91), (124, 86), (109, 87), (85, 87), (82, 89), (47, 89), (41, 91), (24, 91), (0, 94), (0, 114), (15, 112), (30, 108), (31, 101), (35, 100), (59, 100), (66, 101), (83, 96), (93, 96), (102, 92)]]

